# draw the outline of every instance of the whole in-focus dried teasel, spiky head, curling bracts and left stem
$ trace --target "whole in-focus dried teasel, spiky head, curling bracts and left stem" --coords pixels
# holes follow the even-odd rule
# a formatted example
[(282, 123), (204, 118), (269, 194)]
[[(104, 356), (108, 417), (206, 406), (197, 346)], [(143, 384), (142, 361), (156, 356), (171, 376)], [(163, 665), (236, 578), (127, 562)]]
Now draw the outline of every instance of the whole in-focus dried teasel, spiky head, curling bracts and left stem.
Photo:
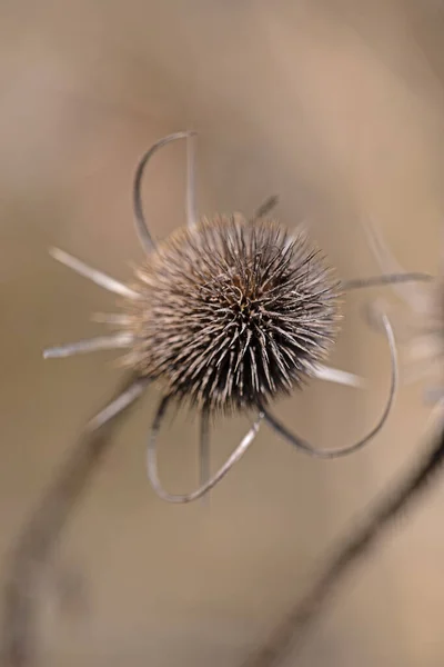
[[(264, 219), (275, 205), (275, 198), (268, 200), (256, 211), (251, 221), (246, 221), (238, 216), (231, 218), (218, 217), (211, 222), (198, 222), (194, 197), (193, 145), (191, 141), (189, 141), (188, 152), (186, 189), (189, 230), (180, 231), (179, 236), (173, 235), (171, 239), (168, 239), (157, 248), (143, 217), (140, 197), (141, 179), (144, 167), (153, 152), (161, 146), (184, 137), (190, 137), (190, 133), (179, 132), (162, 139), (145, 153), (138, 167), (134, 181), (134, 212), (137, 229), (141, 242), (147, 250), (148, 259), (144, 266), (138, 271), (137, 280), (133, 285), (128, 286), (119, 282), (61, 250), (52, 250), (52, 256), (59, 261), (71, 267), (97, 285), (119, 295), (122, 299), (122, 308), (117, 315), (97, 317), (98, 320), (105, 321), (115, 328), (113, 335), (80, 341), (62, 348), (52, 348), (46, 352), (46, 357), (62, 357), (108, 348), (128, 348), (124, 362), (127, 366), (130, 366), (133, 372), (131, 381), (125, 385), (118, 397), (88, 424), (79, 446), (70, 455), (65, 466), (62, 467), (54, 484), (51, 485), (42, 498), (42, 502), (24, 525), (23, 530), (11, 549), (8, 561), (9, 569), (7, 568), (6, 573), (3, 645), (1, 651), (4, 664), (11, 667), (24, 667), (33, 661), (36, 639), (34, 598), (39, 576), (48, 564), (54, 545), (75, 508), (85, 484), (110, 442), (111, 427), (123, 415), (124, 410), (141, 397), (151, 380), (159, 379), (163, 382), (165, 394), (158, 408), (150, 436), (148, 474), (155, 491), (162, 498), (175, 502), (194, 500), (214, 486), (246, 450), (258, 432), (259, 425), (263, 418), (296, 447), (304, 449), (313, 456), (329, 458), (346, 455), (367, 442), (382, 428), (393, 405), (397, 365), (392, 328), (389, 319), (384, 318), (383, 325), (392, 356), (391, 389), (382, 417), (375, 428), (364, 438), (350, 447), (344, 447), (336, 451), (315, 449), (310, 444), (287, 431), (268, 411), (265, 405), (269, 401), (279, 395), (300, 387), (311, 376), (345, 385), (359, 385), (359, 379), (351, 374), (320, 364), (321, 359), (327, 354), (337, 331), (337, 297), (341, 291), (340, 287), (345, 291), (356, 287), (364, 287), (369, 283), (372, 285), (375, 281), (390, 282), (392, 279), (396, 279), (396, 277), (389, 277), (389, 279), (379, 277), (376, 279), (349, 281), (339, 286), (332, 279), (331, 271), (325, 265), (325, 259), (314, 251), (305, 237), (300, 236), (293, 239), (275, 221)], [(214, 268), (215, 252), (213, 252), (214, 247), (211, 246), (211, 238), (216, 240), (215, 250), (219, 249), (218, 258), (220, 268), (223, 269), (224, 279), (219, 276)], [(179, 243), (178, 246), (178, 239), (182, 239), (183, 243)], [(208, 243), (206, 250), (211, 250), (210, 253), (206, 252), (206, 262), (209, 265), (206, 268), (204, 266), (205, 262), (201, 259), (202, 253), (199, 252), (202, 248), (202, 240), (204, 241), (205, 239)], [(273, 242), (272, 239), (274, 239)], [(204, 247), (205, 242), (203, 242)], [(206, 378), (205, 375), (202, 375), (202, 371), (200, 371), (200, 376), (199, 374), (195, 377), (192, 375), (193, 370), (190, 369), (190, 358), (184, 358), (180, 368), (174, 367), (176, 357), (171, 356), (168, 350), (168, 340), (170, 340), (171, 345), (178, 345), (178, 341), (174, 341), (172, 337), (169, 338), (167, 330), (159, 329), (149, 311), (150, 303), (157, 303), (158, 307), (162, 307), (161, 293), (165, 289), (163, 281), (165, 276), (170, 278), (169, 281), (167, 280), (167, 291), (173, 297), (173, 300), (178, 298), (174, 291), (176, 287), (174, 282), (176, 273), (174, 271), (178, 269), (174, 269), (174, 262), (170, 261), (170, 259), (168, 259), (163, 267), (160, 261), (162, 252), (167, 252), (167, 257), (169, 258), (170, 253), (173, 252), (174, 255), (176, 250), (179, 250), (179, 253), (184, 252), (186, 258), (185, 265), (190, 271), (189, 275), (183, 272), (182, 262), (183, 285), (188, 286), (191, 290), (193, 286), (196, 288), (196, 292), (193, 295), (194, 303), (196, 300), (199, 301), (198, 293), (202, 297), (201, 301), (199, 301), (199, 317), (202, 317), (202, 313), (208, 313), (208, 317), (210, 317), (209, 313), (211, 311), (215, 315), (219, 313), (221, 319), (218, 320), (216, 318), (216, 320), (221, 327), (221, 335), (224, 330), (226, 332), (226, 330), (231, 331), (231, 329), (236, 328), (238, 336), (235, 338), (234, 334), (230, 334), (232, 336), (229, 339), (231, 342), (226, 342), (224, 337), (221, 336), (220, 345), (222, 346), (222, 351), (218, 347), (214, 347), (215, 344), (212, 336), (208, 339), (209, 348), (202, 345), (203, 339), (201, 340), (198, 335), (195, 337), (196, 349), (200, 350), (199, 354), (206, 357), (209, 368), (213, 369), (213, 379), (215, 377), (214, 368), (221, 369), (219, 378), (221, 382), (215, 384), (219, 391), (216, 390), (214, 394), (209, 391), (209, 389), (205, 390), (204, 381)], [(255, 253), (256, 250), (259, 255)], [(264, 256), (269, 257), (269, 266), (264, 261)], [(195, 263), (192, 259), (195, 260)], [(258, 271), (258, 268), (261, 268), (261, 270)], [(209, 271), (209, 276), (213, 281), (214, 292), (209, 290), (209, 285), (205, 281), (202, 281), (205, 271)], [(404, 276), (402, 279), (411, 280), (414, 277)], [(270, 282), (268, 283), (266, 280)], [(260, 290), (262, 290), (261, 295), (259, 295)], [(304, 297), (301, 297), (301, 295), (304, 295)], [(182, 293), (182, 305), (189, 308), (189, 303), (186, 299), (183, 300), (183, 296)], [(211, 301), (211, 297), (215, 298), (215, 300)], [(225, 306), (226, 311), (223, 311), (224, 307), (221, 306), (221, 299), (228, 301)], [(211, 301), (211, 305), (209, 301)], [(303, 307), (304, 303), (305, 308)], [(271, 307), (274, 309), (271, 311), (274, 315), (271, 315), (269, 310)], [(297, 311), (297, 318), (295, 317), (293, 307)], [(205, 308), (209, 310), (205, 310)], [(222, 317), (223, 313), (225, 317), (230, 309), (232, 321)], [(172, 310), (169, 317), (174, 317)], [(189, 310), (186, 312), (189, 315), (193, 313), (190, 313)], [(193, 325), (192, 319), (188, 320), (188, 327), (190, 327), (190, 323), (191, 326)], [(265, 341), (268, 340), (266, 332), (261, 328), (264, 323), (268, 327), (268, 345), (264, 342), (264, 337)], [(180, 325), (182, 336), (185, 336), (185, 339), (182, 338), (181, 345), (182, 349), (185, 350), (189, 349), (188, 346), (193, 346), (194, 340), (191, 338), (186, 339), (186, 331), (190, 329), (186, 330), (185, 327), (182, 327), (182, 322)], [(270, 331), (273, 331), (272, 327), (274, 327), (274, 332), (271, 335)], [(276, 327), (282, 329), (282, 331), (278, 331)], [(150, 328), (151, 334), (147, 335)], [(155, 340), (155, 336), (162, 337), (163, 350), (161, 350), (161, 354), (160, 350), (151, 349), (149, 345), (150, 340)], [(243, 340), (243, 347), (241, 347), (241, 340)], [(273, 347), (273, 342), (271, 341), (274, 341), (275, 347)], [(226, 367), (223, 366), (224, 357), (219, 358), (220, 366), (218, 367), (216, 364), (212, 366), (213, 358), (211, 355), (213, 352), (215, 352), (215, 356), (218, 354), (222, 355), (223, 350), (232, 344), (234, 344), (236, 357), (233, 360), (234, 362), (228, 367), (229, 370), (231, 369), (230, 375), (226, 372)], [(230, 351), (225, 355), (228, 360), (230, 360)], [(133, 355), (132, 361), (131, 355)], [(273, 359), (275, 364), (273, 364)], [(242, 364), (243, 366), (241, 366)], [(232, 378), (231, 382), (230, 378)], [(243, 380), (242, 388), (239, 386), (240, 382), (238, 382), (238, 379), (240, 380), (241, 378)], [(208, 382), (210, 381), (211, 379), (208, 380)], [(224, 390), (226, 387), (231, 387), (231, 389)], [(200, 449), (202, 484), (196, 491), (185, 496), (171, 496), (164, 491), (157, 474), (155, 437), (168, 404), (172, 398), (180, 401), (188, 400), (191, 405), (195, 405), (201, 412)], [(252, 408), (259, 411), (253, 427), (224, 466), (209, 479), (206, 469), (209, 465), (210, 415), (216, 411), (244, 411)]]

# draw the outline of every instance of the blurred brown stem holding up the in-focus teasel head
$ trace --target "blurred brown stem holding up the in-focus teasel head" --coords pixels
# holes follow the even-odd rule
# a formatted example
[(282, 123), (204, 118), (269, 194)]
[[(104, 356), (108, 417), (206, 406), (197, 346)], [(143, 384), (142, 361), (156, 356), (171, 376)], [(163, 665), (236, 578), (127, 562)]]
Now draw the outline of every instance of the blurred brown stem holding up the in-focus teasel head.
[(29, 667), (36, 661), (40, 577), (92, 472), (110, 447), (117, 421), (135, 402), (143, 388), (141, 380), (127, 380), (117, 398), (89, 422), (12, 546), (6, 565), (2, 600), (1, 657), (4, 667)]

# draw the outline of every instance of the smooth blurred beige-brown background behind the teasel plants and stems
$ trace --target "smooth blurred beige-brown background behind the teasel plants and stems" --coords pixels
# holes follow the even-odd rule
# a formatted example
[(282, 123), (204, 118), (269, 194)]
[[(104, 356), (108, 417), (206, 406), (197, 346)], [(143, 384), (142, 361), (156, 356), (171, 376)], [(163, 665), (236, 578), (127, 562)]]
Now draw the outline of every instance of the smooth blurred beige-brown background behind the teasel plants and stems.
[[(407, 269), (437, 270), (444, 3), (3, 0), (0, 18), (7, 555), (121, 377), (112, 352), (43, 361), (43, 347), (99, 332), (91, 312), (113, 306), (47, 249), (128, 279), (143, 258), (133, 171), (160, 137), (198, 130), (202, 213), (249, 215), (276, 193), (279, 219), (309, 222), (344, 279), (377, 269), (360, 226), (370, 215)], [(184, 166), (179, 142), (148, 169), (157, 238), (184, 223)], [(385, 401), (389, 354), (361, 317), (371, 296), (346, 300), (331, 359), (366, 376), (370, 390), (316, 381), (276, 408), (319, 445), (356, 439)], [(144, 472), (159, 398), (150, 389), (119, 429), (58, 544), (39, 591), (41, 664), (241, 665), (307, 589), (334, 539), (426, 445), (421, 387), (404, 387), (363, 451), (309, 459), (263, 427), (208, 507), (170, 506)], [(246, 428), (246, 419), (218, 422), (213, 466)], [(165, 426), (160, 465), (172, 490), (196, 484), (196, 432), (183, 414)], [(443, 505), (444, 480), (346, 579), (297, 665), (443, 664)], [(4, 581), (4, 565), (0, 574)]]

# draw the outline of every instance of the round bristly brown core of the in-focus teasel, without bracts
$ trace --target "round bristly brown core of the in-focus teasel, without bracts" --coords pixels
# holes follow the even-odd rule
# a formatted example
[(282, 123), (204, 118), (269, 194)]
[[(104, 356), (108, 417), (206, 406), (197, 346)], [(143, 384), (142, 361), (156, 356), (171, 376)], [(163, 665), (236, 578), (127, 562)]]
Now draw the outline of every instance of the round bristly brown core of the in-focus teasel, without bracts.
[(202, 410), (266, 405), (313, 376), (339, 328), (339, 282), (305, 236), (242, 216), (172, 233), (138, 271), (125, 362)]

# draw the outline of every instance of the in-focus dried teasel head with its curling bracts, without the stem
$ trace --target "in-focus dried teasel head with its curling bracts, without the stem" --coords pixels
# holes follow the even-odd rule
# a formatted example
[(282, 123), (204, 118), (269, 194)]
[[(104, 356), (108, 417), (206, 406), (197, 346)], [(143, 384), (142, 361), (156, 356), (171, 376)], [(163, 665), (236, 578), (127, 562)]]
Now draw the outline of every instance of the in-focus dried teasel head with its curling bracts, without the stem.
[[(306, 235), (293, 236), (268, 217), (275, 203), (273, 199), (252, 219), (233, 215), (199, 220), (192, 135), (178, 132), (161, 139), (138, 166), (133, 202), (147, 259), (131, 285), (119, 282), (62, 250), (52, 250), (59, 261), (119, 295), (121, 310), (97, 318), (111, 326), (112, 334), (44, 352), (48, 358), (121, 348), (125, 350), (122, 362), (135, 371), (138, 396), (141, 387), (153, 380), (162, 385), (163, 398), (150, 431), (147, 468), (154, 490), (172, 502), (189, 502), (213, 487), (251, 445), (262, 420), (312, 456), (334, 458), (363, 447), (385, 424), (397, 384), (393, 331), (384, 316), (392, 358), (390, 394), (375, 427), (362, 439), (336, 450), (319, 449), (289, 431), (270, 412), (269, 404), (302, 387), (311, 377), (360, 385), (352, 374), (322, 362), (339, 331), (341, 292), (366, 281), (340, 283)], [(157, 150), (184, 138), (189, 148), (188, 226), (157, 245), (142, 210), (143, 171)], [(130, 388), (120, 402), (113, 402), (113, 415), (120, 404), (123, 409), (133, 399), (133, 394)], [(158, 477), (157, 436), (173, 400), (188, 402), (201, 416), (201, 486), (188, 495), (167, 492)], [(210, 417), (233, 411), (255, 411), (256, 418), (228, 461), (210, 477)]]

